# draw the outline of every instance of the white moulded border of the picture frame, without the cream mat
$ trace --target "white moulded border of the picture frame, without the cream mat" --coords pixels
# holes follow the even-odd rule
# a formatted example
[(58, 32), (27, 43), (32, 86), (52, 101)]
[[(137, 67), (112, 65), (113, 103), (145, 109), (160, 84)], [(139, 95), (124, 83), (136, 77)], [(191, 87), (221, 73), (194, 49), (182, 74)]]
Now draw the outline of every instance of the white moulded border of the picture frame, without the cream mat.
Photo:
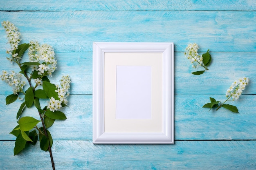
[[(163, 53), (164, 132), (104, 132), (104, 53)], [(93, 43), (93, 144), (174, 144), (174, 44), (172, 42)]]

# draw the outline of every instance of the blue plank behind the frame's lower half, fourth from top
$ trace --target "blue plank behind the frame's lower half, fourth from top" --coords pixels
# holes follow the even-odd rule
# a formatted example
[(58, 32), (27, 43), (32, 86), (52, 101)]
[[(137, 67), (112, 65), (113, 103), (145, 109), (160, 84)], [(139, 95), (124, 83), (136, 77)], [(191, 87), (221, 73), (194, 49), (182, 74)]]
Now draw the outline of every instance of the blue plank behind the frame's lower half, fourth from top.
[[(1, 140), (15, 140), (9, 134), (16, 123), (16, 113), (22, 102), (5, 105), (6, 95), (0, 95)], [(175, 95), (175, 140), (256, 140), (256, 106), (254, 95), (242, 95), (236, 102), (239, 114), (220, 108), (202, 108), (213, 97), (224, 102), (225, 95)], [(69, 108), (63, 113), (65, 121), (56, 121), (49, 128), (55, 140), (92, 140), (92, 95), (71, 95)], [(41, 106), (45, 106), (41, 104)], [(24, 115), (38, 117), (34, 108), (25, 110)]]

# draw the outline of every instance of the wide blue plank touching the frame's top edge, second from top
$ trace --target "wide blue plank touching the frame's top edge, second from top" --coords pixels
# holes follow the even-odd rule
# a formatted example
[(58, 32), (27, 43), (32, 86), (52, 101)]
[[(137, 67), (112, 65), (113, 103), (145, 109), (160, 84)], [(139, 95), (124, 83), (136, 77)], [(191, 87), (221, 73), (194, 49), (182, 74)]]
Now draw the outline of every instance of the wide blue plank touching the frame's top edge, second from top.
[[(200, 51), (256, 52), (255, 11), (2, 11), (4, 20), (23, 42), (50, 43), (56, 52), (91, 52), (92, 42), (174, 42), (180, 52), (197, 42)], [(1, 52), (5, 36), (0, 29)]]

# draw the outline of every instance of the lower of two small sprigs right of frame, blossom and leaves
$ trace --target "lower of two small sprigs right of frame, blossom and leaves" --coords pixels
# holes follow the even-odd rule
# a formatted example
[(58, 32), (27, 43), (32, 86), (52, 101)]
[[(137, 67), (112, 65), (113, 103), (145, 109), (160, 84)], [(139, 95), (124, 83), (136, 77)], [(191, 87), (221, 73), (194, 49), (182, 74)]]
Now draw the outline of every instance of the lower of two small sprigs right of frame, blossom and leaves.
[[(228, 100), (238, 100), (240, 95), (242, 94), (243, 90), (245, 90), (245, 86), (249, 83), (249, 79), (247, 77), (240, 78), (238, 81), (235, 81), (231, 84), (231, 86), (227, 89), (226, 97)], [(203, 108), (216, 108), (216, 110), (219, 110), (221, 107), (224, 107), (234, 113), (239, 113), (238, 108), (236, 106), (225, 104), (225, 102), (221, 103), (220, 101), (216, 101), (216, 99), (210, 97), (211, 103), (207, 103), (203, 106)]]

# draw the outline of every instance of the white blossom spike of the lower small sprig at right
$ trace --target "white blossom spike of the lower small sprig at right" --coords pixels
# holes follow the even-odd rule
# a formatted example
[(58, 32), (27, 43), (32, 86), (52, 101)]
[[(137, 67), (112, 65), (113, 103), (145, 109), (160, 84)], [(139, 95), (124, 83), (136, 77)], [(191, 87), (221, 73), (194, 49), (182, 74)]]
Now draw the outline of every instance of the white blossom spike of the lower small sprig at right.
[(249, 79), (247, 77), (240, 78), (238, 81), (235, 81), (231, 84), (231, 86), (227, 89), (226, 97), (232, 97), (233, 100), (239, 99), (242, 91), (245, 90), (245, 86), (249, 83)]

